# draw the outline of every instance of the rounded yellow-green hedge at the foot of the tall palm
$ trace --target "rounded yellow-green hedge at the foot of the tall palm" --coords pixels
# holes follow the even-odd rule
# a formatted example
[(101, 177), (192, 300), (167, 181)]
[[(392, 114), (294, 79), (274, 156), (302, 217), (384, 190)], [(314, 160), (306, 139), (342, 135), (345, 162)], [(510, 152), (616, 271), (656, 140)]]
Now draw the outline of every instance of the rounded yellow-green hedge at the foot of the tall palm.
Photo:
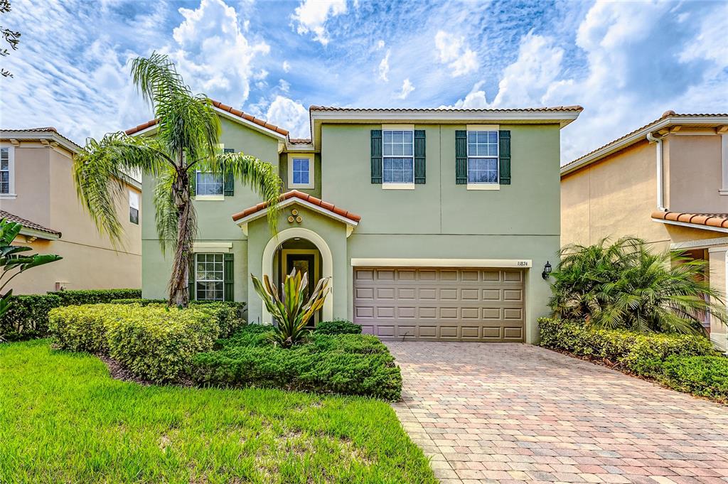
[(226, 304), (87, 304), (52, 309), (49, 330), (60, 349), (107, 354), (138, 378), (165, 383), (189, 376), (194, 354), (242, 324)]

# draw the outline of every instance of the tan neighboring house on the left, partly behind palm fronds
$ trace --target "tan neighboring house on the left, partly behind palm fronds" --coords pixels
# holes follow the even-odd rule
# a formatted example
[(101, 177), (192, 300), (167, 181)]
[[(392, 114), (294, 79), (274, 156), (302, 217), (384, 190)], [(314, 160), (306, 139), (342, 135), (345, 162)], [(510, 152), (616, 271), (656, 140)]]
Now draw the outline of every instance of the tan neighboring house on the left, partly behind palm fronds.
[(141, 183), (122, 180), (124, 241), (115, 248), (76, 196), (72, 160), (79, 149), (53, 127), (0, 130), (0, 217), (23, 224), (17, 245), (63, 256), (13, 279), (15, 294), (141, 287)]

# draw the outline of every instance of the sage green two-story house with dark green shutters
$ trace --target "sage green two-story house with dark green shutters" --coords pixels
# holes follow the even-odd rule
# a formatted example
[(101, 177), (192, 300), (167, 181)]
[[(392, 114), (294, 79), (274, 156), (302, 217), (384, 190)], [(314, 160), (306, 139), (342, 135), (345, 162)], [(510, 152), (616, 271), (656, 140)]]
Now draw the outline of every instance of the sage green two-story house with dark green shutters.
[[(247, 301), (250, 322), (270, 322), (250, 274), (280, 281), (296, 267), (331, 277), (322, 320), (385, 339), (537, 341), (559, 250), (560, 130), (582, 108), (312, 106), (300, 140), (214, 105), (223, 148), (274, 164), (285, 193), (272, 235), (255, 194), (197, 173), (191, 297)], [(163, 298), (171, 264), (152, 218), (142, 237), (143, 296)]]

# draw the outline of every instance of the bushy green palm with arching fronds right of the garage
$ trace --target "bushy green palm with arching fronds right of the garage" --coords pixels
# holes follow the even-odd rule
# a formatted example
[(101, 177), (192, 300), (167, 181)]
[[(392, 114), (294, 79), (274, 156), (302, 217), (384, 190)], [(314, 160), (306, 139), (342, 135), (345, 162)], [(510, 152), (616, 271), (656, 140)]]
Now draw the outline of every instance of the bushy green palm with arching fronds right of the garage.
[(652, 253), (633, 237), (569, 245), (561, 257), (551, 274), (557, 316), (641, 333), (696, 333), (706, 313), (728, 321), (722, 295), (705, 281), (707, 261)]

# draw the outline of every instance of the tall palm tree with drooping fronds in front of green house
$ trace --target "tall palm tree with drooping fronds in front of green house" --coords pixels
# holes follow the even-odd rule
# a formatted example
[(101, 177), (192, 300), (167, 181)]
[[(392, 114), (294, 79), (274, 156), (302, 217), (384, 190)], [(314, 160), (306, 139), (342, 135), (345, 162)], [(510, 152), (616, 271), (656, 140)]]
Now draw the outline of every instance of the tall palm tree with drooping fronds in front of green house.
[(116, 197), (128, 172), (153, 177), (157, 234), (162, 253), (174, 250), (168, 285), (168, 304), (187, 306), (188, 261), (197, 236), (197, 219), (191, 203), (190, 177), (197, 170), (225, 173), (250, 186), (268, 202), (269, 226), (275, 231), (275, 206), (282, 182), (272, 164), (242, 153), (223, 154), (218, 149), (220, 120), (212, 101), (193, 95), (166, 55), (132, 60), (134, 84), (154, 108), (157, 134), (131, 137), (123, 132), (89, 138), (74, 157), (74, 178), (79, 198), (99, 231), (114, 245), (122, 241), (116, 218)]

